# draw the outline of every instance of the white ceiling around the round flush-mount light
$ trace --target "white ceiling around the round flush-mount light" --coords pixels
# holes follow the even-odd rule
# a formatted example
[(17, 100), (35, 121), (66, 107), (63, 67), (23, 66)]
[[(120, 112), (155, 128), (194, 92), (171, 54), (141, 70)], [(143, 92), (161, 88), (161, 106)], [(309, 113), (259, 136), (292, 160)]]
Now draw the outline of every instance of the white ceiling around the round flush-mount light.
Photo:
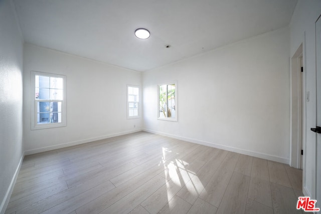
[[(26, 42), (135, 71), (288, 26), (296, 2), (14, 0)], [(149, 39), (137, 39), (137, 28)]]

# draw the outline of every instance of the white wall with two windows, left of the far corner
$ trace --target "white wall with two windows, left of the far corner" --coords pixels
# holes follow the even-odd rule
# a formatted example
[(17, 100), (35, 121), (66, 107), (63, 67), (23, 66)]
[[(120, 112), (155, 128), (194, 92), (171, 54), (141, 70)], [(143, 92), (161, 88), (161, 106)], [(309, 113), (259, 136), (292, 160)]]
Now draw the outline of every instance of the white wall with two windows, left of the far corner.
[[(31, 130), (31, 71), (66, 75), (67, 126)], [(24, 149), (26, 154), (140, 130), (142, 118), (126, 119), (126, 84), (141, 85), (141, 74), (25, 44)], [(136, 125), (135, 128), (134, 125)]]

